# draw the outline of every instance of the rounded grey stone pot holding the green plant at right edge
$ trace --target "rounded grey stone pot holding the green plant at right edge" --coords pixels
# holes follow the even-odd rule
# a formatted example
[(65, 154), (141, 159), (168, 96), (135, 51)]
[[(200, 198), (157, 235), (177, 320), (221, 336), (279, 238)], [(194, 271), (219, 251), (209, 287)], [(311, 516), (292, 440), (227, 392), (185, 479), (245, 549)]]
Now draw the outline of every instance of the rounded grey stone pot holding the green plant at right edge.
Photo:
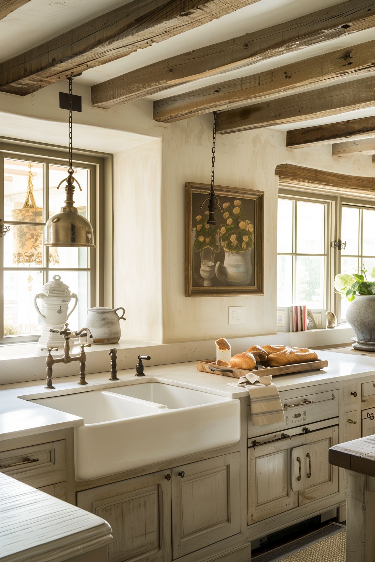
[(375, 295), (355, 297), (346, 311), (346, 320), (358, 342), (375, 343)]

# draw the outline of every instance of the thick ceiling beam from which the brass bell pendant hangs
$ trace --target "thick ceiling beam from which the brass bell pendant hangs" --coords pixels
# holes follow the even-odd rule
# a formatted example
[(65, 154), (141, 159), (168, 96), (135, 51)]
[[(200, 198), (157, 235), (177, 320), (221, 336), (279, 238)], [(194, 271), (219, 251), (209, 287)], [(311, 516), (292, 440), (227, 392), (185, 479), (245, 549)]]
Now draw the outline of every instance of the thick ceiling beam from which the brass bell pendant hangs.
[(0, 64), (0, 91), (25, 96), (258, 0), (133, 0)]

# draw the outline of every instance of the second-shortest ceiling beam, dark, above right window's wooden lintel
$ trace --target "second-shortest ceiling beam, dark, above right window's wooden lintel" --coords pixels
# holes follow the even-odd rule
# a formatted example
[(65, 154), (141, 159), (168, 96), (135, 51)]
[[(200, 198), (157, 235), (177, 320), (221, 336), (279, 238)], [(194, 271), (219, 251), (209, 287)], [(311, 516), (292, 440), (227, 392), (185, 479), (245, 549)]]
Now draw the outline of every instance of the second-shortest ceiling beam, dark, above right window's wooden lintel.
[(361, 117), (287, 132), (286, 146), (302, 148), (314, 144), (332, 144), (340, 140), (375, 137), (375, 117)]

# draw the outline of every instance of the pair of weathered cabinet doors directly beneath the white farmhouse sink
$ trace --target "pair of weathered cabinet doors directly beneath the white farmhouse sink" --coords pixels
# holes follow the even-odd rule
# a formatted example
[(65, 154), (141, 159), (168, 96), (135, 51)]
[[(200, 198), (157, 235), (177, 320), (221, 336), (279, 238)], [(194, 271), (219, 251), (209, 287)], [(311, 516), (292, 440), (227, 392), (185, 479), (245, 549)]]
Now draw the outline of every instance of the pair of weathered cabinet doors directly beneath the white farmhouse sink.
[(240, 533), (239, 504), (238, 452), (76, 494), (112, 527), (109, 562), (169, 562)]

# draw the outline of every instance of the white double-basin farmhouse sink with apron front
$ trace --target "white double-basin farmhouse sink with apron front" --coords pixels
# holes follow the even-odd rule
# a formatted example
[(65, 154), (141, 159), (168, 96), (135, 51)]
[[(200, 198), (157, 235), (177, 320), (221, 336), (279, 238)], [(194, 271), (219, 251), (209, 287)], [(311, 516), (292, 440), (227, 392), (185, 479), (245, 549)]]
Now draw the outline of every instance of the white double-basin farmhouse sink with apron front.
[(240, 439), (240, 401), (166, 383), (139, 382), (32, 400), (83, 418), (75, 474), (99, 478), (209, 451)]

